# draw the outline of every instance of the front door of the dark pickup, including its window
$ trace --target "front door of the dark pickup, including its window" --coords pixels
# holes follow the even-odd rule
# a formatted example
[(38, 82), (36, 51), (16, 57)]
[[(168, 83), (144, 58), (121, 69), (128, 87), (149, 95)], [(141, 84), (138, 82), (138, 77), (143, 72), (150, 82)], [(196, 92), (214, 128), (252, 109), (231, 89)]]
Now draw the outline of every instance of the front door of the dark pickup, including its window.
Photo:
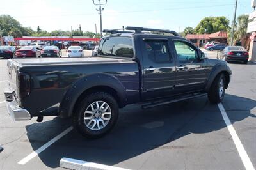
[(173, 40), (177, 58), (175, 93), (200, 91), (207, 80), (207, 63), (198, 49), (186, 40)]

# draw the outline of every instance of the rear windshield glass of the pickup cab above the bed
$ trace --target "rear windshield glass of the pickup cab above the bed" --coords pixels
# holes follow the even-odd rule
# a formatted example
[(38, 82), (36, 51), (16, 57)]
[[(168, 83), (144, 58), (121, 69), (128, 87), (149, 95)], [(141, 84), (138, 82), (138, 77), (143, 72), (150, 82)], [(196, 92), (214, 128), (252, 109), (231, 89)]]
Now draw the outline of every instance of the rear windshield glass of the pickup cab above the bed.
[(100, 40), (99, 55), (133, 58), (133, 40), (129, 37), (108, 37)]

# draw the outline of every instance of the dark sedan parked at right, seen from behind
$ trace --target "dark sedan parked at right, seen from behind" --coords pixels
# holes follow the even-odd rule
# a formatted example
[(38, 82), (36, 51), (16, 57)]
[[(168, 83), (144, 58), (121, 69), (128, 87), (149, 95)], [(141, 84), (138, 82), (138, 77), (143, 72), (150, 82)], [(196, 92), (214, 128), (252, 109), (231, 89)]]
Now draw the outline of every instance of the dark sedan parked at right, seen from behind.
[(229, 61), (239, 61), (244, 64), (248, 63), (249, 53), (241, 46), (227, 46), (220, 53), (220, 59), (227, 62)]

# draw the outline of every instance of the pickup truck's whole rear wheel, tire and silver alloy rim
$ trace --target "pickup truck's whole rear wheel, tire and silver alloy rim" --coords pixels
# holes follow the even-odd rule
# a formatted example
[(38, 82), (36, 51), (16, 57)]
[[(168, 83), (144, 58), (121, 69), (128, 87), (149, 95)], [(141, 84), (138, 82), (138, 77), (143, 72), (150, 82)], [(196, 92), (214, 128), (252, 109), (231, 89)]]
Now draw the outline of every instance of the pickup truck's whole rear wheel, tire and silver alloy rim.
[(108, 133), (118, 118), (118, 104), (106, 92), (84, 97), (72, 115), (74, 128), (85, 137), (97, 138)]

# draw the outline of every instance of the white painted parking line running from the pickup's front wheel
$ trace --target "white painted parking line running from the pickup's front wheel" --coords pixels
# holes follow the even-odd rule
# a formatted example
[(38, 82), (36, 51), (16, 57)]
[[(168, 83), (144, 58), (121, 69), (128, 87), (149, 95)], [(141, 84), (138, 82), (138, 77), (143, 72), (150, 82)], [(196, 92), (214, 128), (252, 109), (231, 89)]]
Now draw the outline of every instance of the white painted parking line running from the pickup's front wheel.
[(236, 130), (234, 129), (234, 127), (232, 126), (232, 123), (230, 122), (228, 116), (227, 116), (227, 112), (225, 111), (223, 105), (221, 103), (218, 104), (218, 107), (220, 109), (221, 115), (223, 117), (223, 120), (225, 121), (227, 128), (232, 136), (232, 139), (236, 145), (237, 151), (239, 153), (239, 156), (242, 159), (242, 162), (244, 164), (245, 169), (247, 170), (254, 170), (253, 164), (250, 160), (250, 158), (248, 157), (246, 151), (244, 150), (244, 146), (241, 143), (238, 135), (236, 134)]

